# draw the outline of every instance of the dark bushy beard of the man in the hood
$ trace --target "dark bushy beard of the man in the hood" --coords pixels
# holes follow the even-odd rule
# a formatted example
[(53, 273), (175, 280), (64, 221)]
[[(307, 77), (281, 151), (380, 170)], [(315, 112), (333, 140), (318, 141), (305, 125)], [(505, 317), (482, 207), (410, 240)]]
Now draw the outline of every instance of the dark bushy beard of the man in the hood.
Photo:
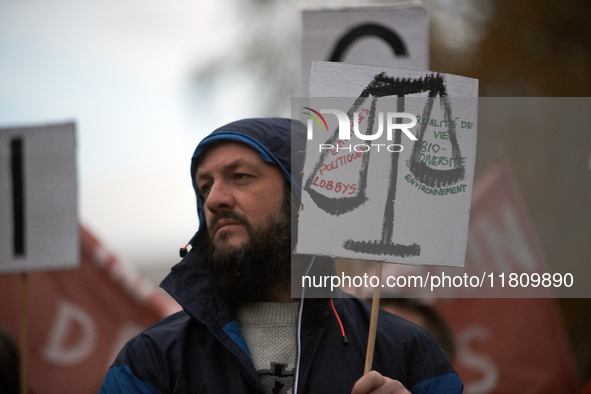
[(214, 283), (222, 297), (230, 303), (270, 301), (273, 291), (289, 285), (289, 211), (290, 202), (285, 199), (279, 217), (274, 217), (262, 228), (253, 228), (246, 218), (233, 211), (222, 211), (212, 218), (212, 223), (220, 218), (235, 219), (248, 234), (247, 240), (237, 247), (224, 247), (224, 242), (216, 247), (211, 239), (209, 242)]

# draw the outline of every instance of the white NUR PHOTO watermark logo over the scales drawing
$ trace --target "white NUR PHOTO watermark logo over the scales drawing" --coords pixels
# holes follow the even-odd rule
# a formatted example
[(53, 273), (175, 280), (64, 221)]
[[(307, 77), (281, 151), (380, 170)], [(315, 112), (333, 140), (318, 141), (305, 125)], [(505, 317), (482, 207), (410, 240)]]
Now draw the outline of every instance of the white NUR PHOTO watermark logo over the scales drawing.
[[(377, 112), (372, 114), (363, 109), (361, 111), (357, 111), (353, 113), (352, 119), (349, 118), (346, 112), (338, 110), (338, 109), (321, 109), (317, 111), (310, 107), (302, 107), (303, 109), (307, 110), (303, 112), (305, 115), (308, 115), (307, 121), (307, 139), (311, 141), (314, 139), (314, 124), (316, 123), (320, 130), (328, 131), (328, 123), (324, 118), (323, 114), (332, 114), (337, 117), (338, 121), (338, 141), (328, 140), (326, 143), (322, 143), (318, 145), (319, 151), (323, 150), (332, 150), (338, 152), (339, 150), (347, 150), (349, 152), (368, 152), (370, 150), (378, 150), (380, 148), (385, 148), (389, 152), (401, 152), (404, 147), (399, 143), (390, 143), (394, 141), (394, 131), (400, 130), (406, 137), (408, 137), (411, 141), (416, 141), (417, 137), (410, 131), (411, 128), (417, 125), (417, 117), (408, 112)], [(377, 119), (376, 119), (377, 118)], [(367, 119), (368, 125), (374, 125), (377, 120), (377, 129), (373, 133), (362, 133), (359, 130), (359, 124)], [(404, 120), (410, 120), (409, 122), (403, 122)], [(385, 125), (384, 125), (385, 122)], [(401, 122), (401, 123), (399, 123)], [(371, 131), (371, 130), (368, 130)], [(344, 145), (344, 141), (348, 141), (354, 135), (360, 140), (363, 141), (376, 141), (382, 137), (386, 133), (386, 140), (389, 142), (388, 144), (384, 143), (363, 143), (363, 144), (356, 144), (356, 145)], [(333, 138), (336, 140), (336, 138)], [(332, 142), (332, 143), (329, 143)]]

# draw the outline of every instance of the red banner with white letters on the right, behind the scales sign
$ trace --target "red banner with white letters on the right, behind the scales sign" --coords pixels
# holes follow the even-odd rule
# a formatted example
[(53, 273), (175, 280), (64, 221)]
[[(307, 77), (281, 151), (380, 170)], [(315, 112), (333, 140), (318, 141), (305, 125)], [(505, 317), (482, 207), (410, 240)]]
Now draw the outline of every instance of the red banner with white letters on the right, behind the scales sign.
[[(546, 272), (543, 249), (508, 163), (475, 185), (466, 267)], [(438, 299), (457, 346), (454, 365), (470, 393), (578, 393), (579, 383), (553, 298)]]

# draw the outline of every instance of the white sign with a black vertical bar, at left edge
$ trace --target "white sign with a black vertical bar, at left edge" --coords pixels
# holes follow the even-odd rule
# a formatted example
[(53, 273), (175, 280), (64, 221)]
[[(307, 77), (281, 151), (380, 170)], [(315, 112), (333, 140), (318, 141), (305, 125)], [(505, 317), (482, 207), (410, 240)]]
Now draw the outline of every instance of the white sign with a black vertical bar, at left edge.
[(75, 133), (73, 123), (0, 130), (0, 273), (78, 265)]

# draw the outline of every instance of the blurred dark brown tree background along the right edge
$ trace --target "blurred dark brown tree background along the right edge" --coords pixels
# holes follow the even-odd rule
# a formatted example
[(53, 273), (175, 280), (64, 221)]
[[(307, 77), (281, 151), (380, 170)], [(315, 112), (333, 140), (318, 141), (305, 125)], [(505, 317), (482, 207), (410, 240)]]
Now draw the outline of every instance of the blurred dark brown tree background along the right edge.
[[(444, 1), (441, 1), (442, 3)], [(466, 3), (451, 1), (445, 3)], [(484, 97), (591, 96), (591, 2), (522, 0), (472, 2), (490, 10), (466, 16), (481, 38), (468, 51), (431, 31), (431, 69), (479, 79)], [(486, 26), (483, 26), (486, 24)], [(589, 107), (591, 110), (591, 107)], [(479, 133), (476, 179), (498, 158), (511, 161), (529, 213), (554, 269), (591, 260), (591, 127)], [(528, 144), (529, 149), (522, 149)], [(560, 299), (581, 379), (591, 378), (591, 300)]]

